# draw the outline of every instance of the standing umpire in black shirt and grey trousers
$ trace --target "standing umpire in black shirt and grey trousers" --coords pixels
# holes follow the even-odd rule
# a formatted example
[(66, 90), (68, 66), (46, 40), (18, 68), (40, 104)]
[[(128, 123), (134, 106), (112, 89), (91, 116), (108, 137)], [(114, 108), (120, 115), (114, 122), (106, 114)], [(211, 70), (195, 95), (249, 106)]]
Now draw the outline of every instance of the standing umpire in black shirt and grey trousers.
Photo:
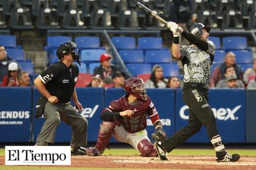
[[(60, 60), (43, 71), (34, 81), (35, 87), (48, 99), (43, 112), (45, 122), (35, 146), (54, 143), (56, 130), (62, 120), (72, 127), (71, 154), (86, 154), (83, 147), (87, 145), (88, 121), (76, 111), (82, 110), (75, 89), (79, 70), (73, 61), (80, 63), (76, 43), (66, 42), (60, 45), (57, 56)], [(70, 104), (70, 98), (76, 109)]]

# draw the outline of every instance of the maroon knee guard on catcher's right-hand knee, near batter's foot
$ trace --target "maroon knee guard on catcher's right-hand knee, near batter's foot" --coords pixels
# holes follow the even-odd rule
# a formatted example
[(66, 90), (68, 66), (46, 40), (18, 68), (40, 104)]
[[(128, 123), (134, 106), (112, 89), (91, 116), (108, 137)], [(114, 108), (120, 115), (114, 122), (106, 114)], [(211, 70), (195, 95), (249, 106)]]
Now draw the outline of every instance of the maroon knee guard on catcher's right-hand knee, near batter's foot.
[(146, 156), (146, 157), (157, 156), (157, 151), (155, 151), (155, 146), (149, 140), (146, 140), (146, 139), (141, 140), (138, 143), (137, 148), (142, 156)]

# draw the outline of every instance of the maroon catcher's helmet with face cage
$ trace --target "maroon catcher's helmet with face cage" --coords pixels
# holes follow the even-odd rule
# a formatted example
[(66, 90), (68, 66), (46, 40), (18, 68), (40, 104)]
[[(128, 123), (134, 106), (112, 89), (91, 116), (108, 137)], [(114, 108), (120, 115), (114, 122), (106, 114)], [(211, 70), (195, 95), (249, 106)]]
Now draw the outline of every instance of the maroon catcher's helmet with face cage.
[(129, 78), (124, 81), (124, 91), (142, 100), (147, 100), (144, 81), (141, 78)]

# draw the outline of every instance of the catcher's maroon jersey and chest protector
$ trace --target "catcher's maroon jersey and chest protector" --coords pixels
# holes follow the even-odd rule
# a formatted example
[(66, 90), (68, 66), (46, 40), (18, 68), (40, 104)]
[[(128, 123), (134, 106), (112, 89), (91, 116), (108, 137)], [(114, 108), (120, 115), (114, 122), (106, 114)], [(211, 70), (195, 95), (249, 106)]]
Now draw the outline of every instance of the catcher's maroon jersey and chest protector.
[(159, 119), (157, 109), (151, 101), (150, 97), (147, 97), (147, 101), (139, 100), (137, 102), (130, 103), (127, 101), (127, 95), (121, 97), (118, 101), (112, 101), (109, 107), (103, 110), (104, 112), (121, 112), (124, 110), (134, 111), (134, 115), (131, 117), (119, 117), (124, 125), (124, 128), (129, 133), (140, 132), (147, 127), (147, 116), (150, 117), (152, 123)]

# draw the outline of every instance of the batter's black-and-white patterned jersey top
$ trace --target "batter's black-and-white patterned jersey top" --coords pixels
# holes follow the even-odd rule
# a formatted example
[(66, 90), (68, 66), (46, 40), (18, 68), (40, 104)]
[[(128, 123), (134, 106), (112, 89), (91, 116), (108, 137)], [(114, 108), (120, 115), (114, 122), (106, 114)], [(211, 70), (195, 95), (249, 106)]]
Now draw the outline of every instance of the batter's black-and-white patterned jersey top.
[(185, 83), (209, 84), (215, 45), (212, 41), (208, 41), (208, 45), (208, 52), (191, 45), (180, 47), (180, 60), (184, 67), (183, 80)]

